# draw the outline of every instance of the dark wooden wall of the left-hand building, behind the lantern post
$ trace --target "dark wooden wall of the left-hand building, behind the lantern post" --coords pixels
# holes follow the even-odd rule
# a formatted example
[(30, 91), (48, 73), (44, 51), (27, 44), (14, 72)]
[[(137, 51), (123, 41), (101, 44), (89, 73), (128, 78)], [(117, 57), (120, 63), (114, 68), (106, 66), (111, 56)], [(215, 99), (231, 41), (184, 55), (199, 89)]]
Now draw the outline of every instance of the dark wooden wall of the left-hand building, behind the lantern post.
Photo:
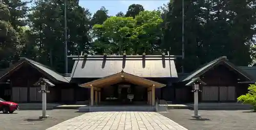
[[(38, 93), (40, 87), (34, 86), (34, 83), (37, 82), (39, 78), (49, 79), (27, 63), (17, 71), (9, 74), (6, 80), (10, 79), (10, 86), (12, 88), (11, 100), (24, 103), (41, 102), (41, 93)], [(75, 100), (74, 84), (55, 83), (51, 79), (49, 80), (54, 83), (55, 86), (48, 88), (50, 93), (47, 93), (47, 102), (70, 102)]]

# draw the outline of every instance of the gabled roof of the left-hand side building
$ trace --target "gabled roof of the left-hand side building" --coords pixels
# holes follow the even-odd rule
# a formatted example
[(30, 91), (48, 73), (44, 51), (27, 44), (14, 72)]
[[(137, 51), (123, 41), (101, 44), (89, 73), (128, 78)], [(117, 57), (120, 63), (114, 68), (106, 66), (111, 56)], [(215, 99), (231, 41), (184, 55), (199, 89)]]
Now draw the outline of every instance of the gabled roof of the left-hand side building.
[(39, 62), (36, 62), (36, 61), (28, 59), (28, 58), (24, 58), (24, 57), (20, 58), (20, 60), (17, 63), (13, 64), (12, 67), (7, 68), (4, 71), (4, 74), (1, 75), (0, 79), (7, 76), (10, 72), (13, 72), (13, 71), (17, 70), (18, 68), (22, 67), (24, 63), (30, 64), (33, 68), (37, 69), (41, 73), (45, 73), (52, 80), (60, 81), (60, 82), (69, 82), (68, 79), (61, 76), (59, 73), (51, 70), (50, 67), (47, 67), (44, 64), (41, 64)]

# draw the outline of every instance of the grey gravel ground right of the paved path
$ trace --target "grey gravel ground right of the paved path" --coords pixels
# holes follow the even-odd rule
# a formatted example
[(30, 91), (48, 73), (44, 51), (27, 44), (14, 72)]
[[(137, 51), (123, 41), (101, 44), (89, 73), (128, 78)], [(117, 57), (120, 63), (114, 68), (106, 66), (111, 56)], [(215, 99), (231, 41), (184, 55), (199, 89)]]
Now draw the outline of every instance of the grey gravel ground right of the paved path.
[(253, 130), (256, 129), (256, 113), (250, 111), (199, 111), (202, 119), (191, 117), (193, 110), (169, 110), (163, 116), (179, 123), (189, 130)]

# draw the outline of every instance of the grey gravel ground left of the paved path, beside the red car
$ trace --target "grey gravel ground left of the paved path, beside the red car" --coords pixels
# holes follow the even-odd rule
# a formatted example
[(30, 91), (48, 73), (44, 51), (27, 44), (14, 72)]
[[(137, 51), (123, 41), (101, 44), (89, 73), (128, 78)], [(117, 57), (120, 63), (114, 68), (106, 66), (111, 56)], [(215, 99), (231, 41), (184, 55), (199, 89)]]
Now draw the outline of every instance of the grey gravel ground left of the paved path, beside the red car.
[(45, 130), (65, 120), (77, 117), (84, 113), (77, 113), (77, 110), (49, 110), (49, 118), (39, 120), (40, 110), (15, 111), (13, 114), (0, 112), (1, 130)]

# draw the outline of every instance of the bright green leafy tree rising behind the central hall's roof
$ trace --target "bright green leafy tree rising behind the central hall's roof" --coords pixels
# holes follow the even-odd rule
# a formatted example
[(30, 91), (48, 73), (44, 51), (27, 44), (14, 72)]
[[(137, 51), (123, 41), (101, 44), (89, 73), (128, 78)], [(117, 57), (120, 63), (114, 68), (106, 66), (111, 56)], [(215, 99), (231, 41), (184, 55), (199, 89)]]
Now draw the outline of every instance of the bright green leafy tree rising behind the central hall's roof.
[(112, 16), (93, 27), (97, 53), (152, 54), (159, 47), (161, 23), (159, 11), (142, 11), (135, 18)]

